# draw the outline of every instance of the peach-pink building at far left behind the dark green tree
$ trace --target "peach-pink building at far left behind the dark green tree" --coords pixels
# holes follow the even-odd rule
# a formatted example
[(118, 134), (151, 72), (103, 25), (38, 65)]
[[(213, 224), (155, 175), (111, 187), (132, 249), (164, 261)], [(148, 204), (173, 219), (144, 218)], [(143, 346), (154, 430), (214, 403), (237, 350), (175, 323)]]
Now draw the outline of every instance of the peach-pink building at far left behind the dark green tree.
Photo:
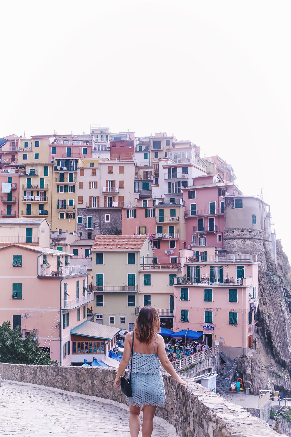
[[(70, 329), (87, 319), (85, 267), (71, 267), (70, 253), (41, 246), (12, 244), (0, 247), (3, 287), (0, 324), (11, 321), (25, 338), (34, 333), (51, 360), (70, 365)], [(89, 340), (88, 340), (89, 341)]]

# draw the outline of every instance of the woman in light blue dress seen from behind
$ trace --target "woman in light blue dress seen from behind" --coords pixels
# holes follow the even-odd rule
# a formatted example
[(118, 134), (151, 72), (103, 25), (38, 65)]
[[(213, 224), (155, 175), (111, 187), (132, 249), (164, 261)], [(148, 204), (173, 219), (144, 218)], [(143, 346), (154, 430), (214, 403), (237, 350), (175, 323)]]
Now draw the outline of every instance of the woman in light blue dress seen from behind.
[(164, 339), (157, 334), (159, 332), (160, 319), (157, 310), (146, 305), (140, 309), (134, 331), (128, 333), (124, 340), (124, 352), (114, 387), (120, 387), (120, 376), (130, 362), (131, 348), (134, 344), (131, 369), (132, 397), (125, 397), (130, 406), (129, 428), (131, 437), (138, 437), (140, 431), (140, 407), (144, 407), (142, 437), (151, 437), (156, 408), (166, 401), (160, 362), (179, 384), (188, 385), (179, 377), (170, 363), (165, 351)]

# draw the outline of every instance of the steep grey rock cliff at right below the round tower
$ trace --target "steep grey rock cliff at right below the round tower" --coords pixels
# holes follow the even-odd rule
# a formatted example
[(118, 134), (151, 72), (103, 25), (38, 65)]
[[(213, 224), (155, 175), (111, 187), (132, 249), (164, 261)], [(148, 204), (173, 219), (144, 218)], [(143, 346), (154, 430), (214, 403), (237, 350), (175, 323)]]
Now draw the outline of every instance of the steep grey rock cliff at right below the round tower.
[(226, 232), (228, 253), (256, 253), (259, 261), (258, 323), (248, 356), (238, 358), (238, 370), (253, 394), (260, 389), (291, 395), (291, 267), (277, 241), (277, 267), (271, 242), (257, 231)]

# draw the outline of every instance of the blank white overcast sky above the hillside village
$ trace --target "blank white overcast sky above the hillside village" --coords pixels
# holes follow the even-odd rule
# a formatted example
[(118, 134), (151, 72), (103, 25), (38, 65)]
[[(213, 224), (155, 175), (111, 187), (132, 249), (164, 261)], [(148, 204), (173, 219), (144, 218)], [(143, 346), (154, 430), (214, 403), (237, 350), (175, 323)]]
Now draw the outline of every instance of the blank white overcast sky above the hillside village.
[(290, 1), (16, 0), (0, 16), (0, 137), (191, 139), (244, 194), (263, 187), (291, 258)]

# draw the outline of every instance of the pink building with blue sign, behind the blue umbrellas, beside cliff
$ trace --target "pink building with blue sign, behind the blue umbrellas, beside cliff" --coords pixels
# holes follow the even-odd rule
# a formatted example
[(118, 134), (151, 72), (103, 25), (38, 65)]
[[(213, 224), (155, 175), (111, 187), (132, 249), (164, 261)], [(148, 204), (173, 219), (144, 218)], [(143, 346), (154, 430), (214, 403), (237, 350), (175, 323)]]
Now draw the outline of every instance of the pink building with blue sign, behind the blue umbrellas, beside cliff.
[(209, 347), (219, 341), (230, 358), (246, 354), (257, 321), (257, 256), (217, 255), (209, 247), (187, 255), (185, 266), (174, 285), (174, 330), (201, 332)]

